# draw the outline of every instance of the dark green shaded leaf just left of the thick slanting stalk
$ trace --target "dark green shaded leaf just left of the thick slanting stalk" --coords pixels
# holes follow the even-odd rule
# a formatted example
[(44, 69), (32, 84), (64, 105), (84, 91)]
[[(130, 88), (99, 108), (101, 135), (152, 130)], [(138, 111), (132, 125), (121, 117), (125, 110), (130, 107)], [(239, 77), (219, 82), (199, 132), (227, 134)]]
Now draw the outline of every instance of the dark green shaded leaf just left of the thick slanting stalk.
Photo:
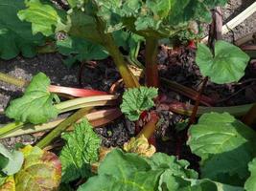
[[(77, 60), (101, 60), (108, 56), (108, 53), (102, 46), (78, 37), (67, 37), (63, 40), (58, 40), (57, 46), (59, 53), (67, 55), (69, 60), (72, 60), (69, 66), (72, 66)], [(70, 59), (71, 57), (73, 59)]]

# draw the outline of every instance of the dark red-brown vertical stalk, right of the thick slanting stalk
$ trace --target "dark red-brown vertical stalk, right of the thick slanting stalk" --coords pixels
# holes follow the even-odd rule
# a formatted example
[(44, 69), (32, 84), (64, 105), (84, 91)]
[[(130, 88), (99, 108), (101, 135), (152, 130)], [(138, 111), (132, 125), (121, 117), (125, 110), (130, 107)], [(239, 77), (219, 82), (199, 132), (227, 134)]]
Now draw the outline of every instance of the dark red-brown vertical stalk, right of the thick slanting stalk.
[(156, 38), (146, 38), (146, 82), (149, 87), (159, 86), (159, 76), (157, 68), (158, 40)]

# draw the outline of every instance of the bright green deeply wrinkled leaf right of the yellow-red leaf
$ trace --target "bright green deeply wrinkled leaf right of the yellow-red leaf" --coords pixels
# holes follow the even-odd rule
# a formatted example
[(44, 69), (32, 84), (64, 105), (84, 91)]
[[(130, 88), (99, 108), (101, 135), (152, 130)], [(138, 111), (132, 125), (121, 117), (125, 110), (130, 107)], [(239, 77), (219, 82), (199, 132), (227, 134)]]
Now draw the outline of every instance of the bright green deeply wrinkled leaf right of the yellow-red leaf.
[(75, 125), (75, 131), (61, 136), (66, 144), (59, 159), (62, 164), (62, 182), (69, 182), (91, 175), (90, 164), (97, 161), (101, 139), (90, 123), (83, 119)]

